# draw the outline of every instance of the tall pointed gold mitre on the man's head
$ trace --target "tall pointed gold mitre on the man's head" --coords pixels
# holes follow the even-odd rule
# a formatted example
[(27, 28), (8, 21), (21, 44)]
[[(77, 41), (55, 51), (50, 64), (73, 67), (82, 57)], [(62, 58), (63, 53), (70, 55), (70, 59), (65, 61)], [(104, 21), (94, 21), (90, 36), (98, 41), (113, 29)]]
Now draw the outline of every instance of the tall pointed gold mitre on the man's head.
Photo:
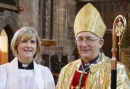
[(90, 3), (81, 8), (74, 21), (75, 37), (78, 33), (83, 31), (92, 32), (100, 38), (103, 38), (106, 31), (106, 25), (100, 13)]

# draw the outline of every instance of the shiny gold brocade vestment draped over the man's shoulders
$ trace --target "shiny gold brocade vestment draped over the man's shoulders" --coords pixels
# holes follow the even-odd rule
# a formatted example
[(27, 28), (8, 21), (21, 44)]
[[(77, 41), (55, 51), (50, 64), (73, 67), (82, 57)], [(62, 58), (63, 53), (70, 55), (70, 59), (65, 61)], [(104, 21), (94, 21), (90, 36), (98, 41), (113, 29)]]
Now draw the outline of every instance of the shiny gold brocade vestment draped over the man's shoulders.
[[(75, 60), (62, 68), (56, 89), (71, 89), (71, 82), (75, 73), (78, 70), (82, 61)], [(111, 79), (111, 59), (102, 53), (96, 64), (90, 66), (88, 78), (85, 82), (84, 89), (110, 89)], [(130, 73), (126, 67), (117, 62), (117, 88), (130, 89)]]

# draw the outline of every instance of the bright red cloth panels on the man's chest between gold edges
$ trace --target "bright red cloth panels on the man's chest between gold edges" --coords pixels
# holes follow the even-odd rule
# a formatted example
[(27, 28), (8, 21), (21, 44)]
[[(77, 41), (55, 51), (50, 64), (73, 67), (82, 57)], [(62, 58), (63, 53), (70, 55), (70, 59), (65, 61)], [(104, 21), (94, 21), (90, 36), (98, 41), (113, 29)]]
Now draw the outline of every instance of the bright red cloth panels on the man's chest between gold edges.
[[(81, 75), (81, 73), (76, 70), (74, 73), (71, 85), (70, 85), (70, 89), (78, 89), (80, 75)], [(81, 83), (80, 89), (85, 89), (84, 87), (85, 87), (85, 81), (87, 80), (87, 77), (88, 77), (88, 74), (84, 74), (84, 76), (82, 78), (82, 83)]]

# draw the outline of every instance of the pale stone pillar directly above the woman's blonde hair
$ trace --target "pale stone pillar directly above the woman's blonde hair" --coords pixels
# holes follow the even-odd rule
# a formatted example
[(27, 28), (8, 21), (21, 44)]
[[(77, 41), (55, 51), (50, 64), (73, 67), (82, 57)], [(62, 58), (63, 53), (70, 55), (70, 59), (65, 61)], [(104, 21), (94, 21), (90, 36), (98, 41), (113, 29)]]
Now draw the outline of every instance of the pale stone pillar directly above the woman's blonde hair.
[(38, 27), (39, 0), (20, 0), (20, 6), (24, 11), (18, 13), (18, 23), (20, 27)]

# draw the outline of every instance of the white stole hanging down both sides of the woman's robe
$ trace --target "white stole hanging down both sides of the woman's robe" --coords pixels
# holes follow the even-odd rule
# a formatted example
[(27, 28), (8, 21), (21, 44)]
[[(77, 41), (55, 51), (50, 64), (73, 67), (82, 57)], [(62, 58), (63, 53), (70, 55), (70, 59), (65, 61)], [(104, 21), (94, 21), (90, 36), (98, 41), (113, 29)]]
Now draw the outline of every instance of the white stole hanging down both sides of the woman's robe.
[[(15, 57), (10, 65), (9, 65), (9, 74), (8, 74), (8, 86), (7, 89), (18, 89), (18, 58)], [(34, 77), (38, 86), (38, 89), (44, 89), (44, 82), (41, 74), (41, 70), (39, 69), (37, 63), (32, 61), (32, 64), (29, 64), (31, 69), (31, 65), (34, 66)], [(22, 67), (21, 67), (22, 68)]]

